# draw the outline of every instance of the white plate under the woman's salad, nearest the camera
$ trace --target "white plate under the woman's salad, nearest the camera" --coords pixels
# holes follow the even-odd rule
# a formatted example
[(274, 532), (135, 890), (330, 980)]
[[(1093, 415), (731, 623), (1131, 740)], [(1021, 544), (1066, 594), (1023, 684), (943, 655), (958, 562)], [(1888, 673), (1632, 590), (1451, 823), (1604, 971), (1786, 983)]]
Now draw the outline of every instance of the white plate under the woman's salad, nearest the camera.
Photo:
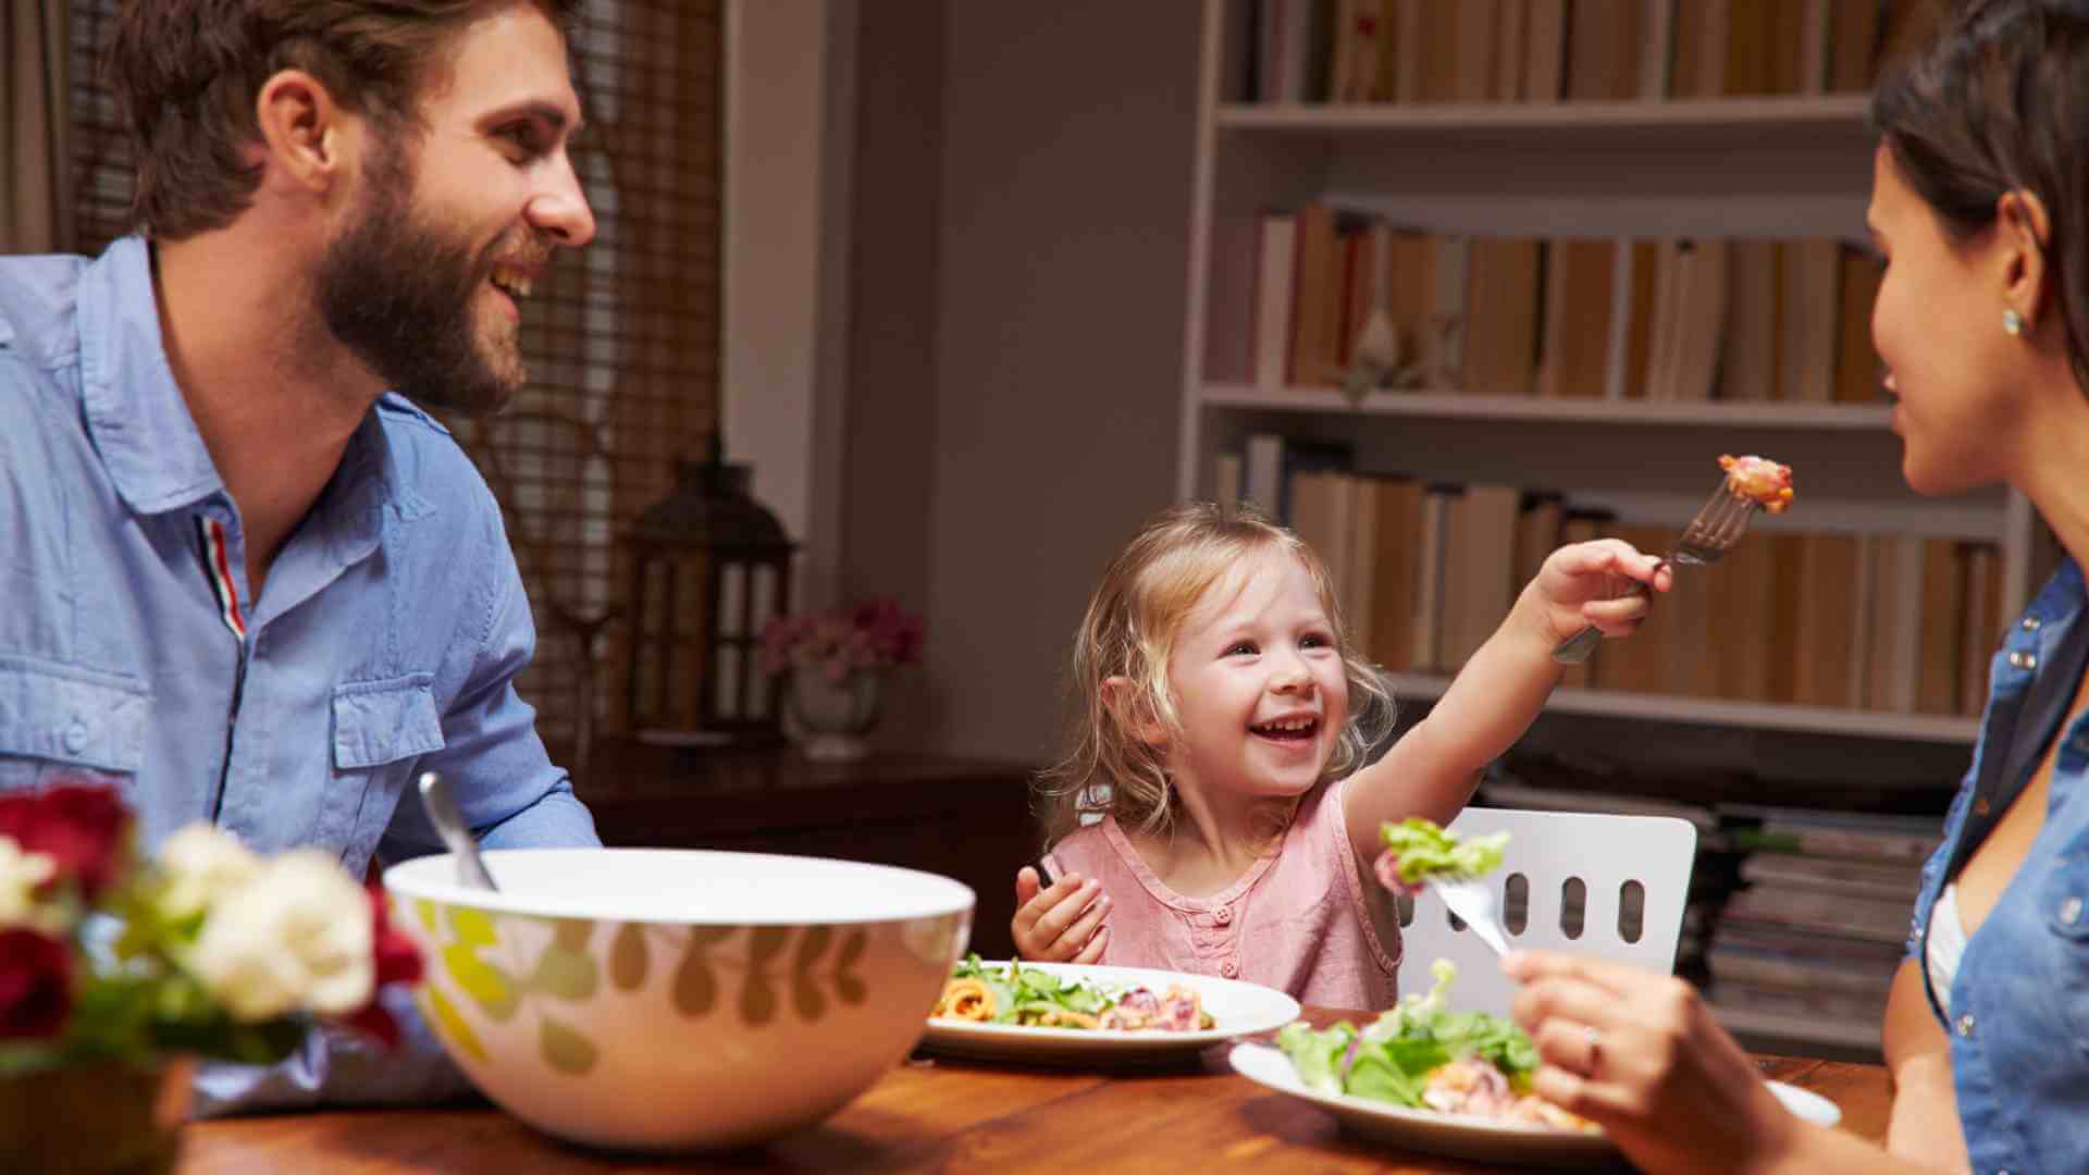
[[(1304, 1098), (1327, 1112), (1343, 1129), (1360, 1137), (1385, 1142), (1404, 1150), (1448, 1154), (1452, 1158), (1473, 1158), (1479, 1162), (1521, 1162), (1565, 1169), (1617, 1167), (1623, 1156), (1604, 1135), (1565, 1133), (1544, 1127), (1492, 1123), (1464, 1114), (1439, 1114), (1435, 1110), (1410, 1110), (1391, 1102), (1352, 1098), (1347, 1093), (1320, 1093), (1308, 1089), (1291, 1068), (1291, 1058), (1270, 1045), (1239, 1043), (1226, 1058), (1233, 1070), (1258, 1085), (1268, 1085), (1278, 1093)], [(1784, 1102), (1784, 1108), (1809, 1123), (1832, 1127), (1842, 1121), (1842, 1110), (1834, 1102), (1771, 1081), (1769, 1091)]]

